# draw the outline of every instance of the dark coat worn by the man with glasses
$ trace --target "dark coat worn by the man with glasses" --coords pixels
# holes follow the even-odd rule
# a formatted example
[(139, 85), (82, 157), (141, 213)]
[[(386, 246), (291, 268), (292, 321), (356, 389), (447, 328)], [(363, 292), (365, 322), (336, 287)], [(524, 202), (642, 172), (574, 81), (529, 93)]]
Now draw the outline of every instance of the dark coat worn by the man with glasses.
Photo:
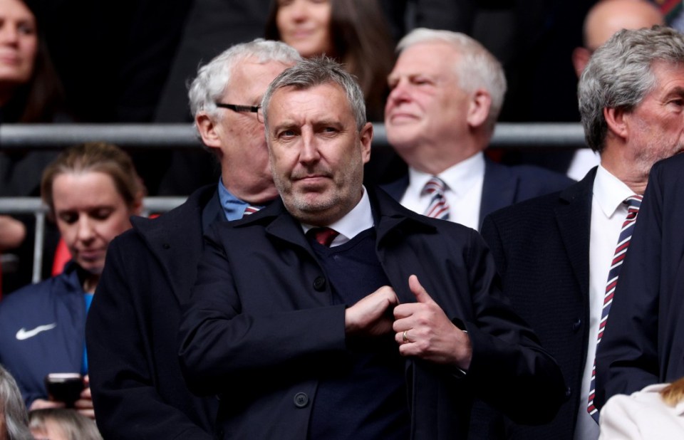
[(219, 205), (215, 184), (158, 219), (133, 218), (133, 229), (110, 243), (86, 325), (90, 387), (105, 439), (212, 438), (218, 404), (185, 387), (176, 339), (207, 204)]

